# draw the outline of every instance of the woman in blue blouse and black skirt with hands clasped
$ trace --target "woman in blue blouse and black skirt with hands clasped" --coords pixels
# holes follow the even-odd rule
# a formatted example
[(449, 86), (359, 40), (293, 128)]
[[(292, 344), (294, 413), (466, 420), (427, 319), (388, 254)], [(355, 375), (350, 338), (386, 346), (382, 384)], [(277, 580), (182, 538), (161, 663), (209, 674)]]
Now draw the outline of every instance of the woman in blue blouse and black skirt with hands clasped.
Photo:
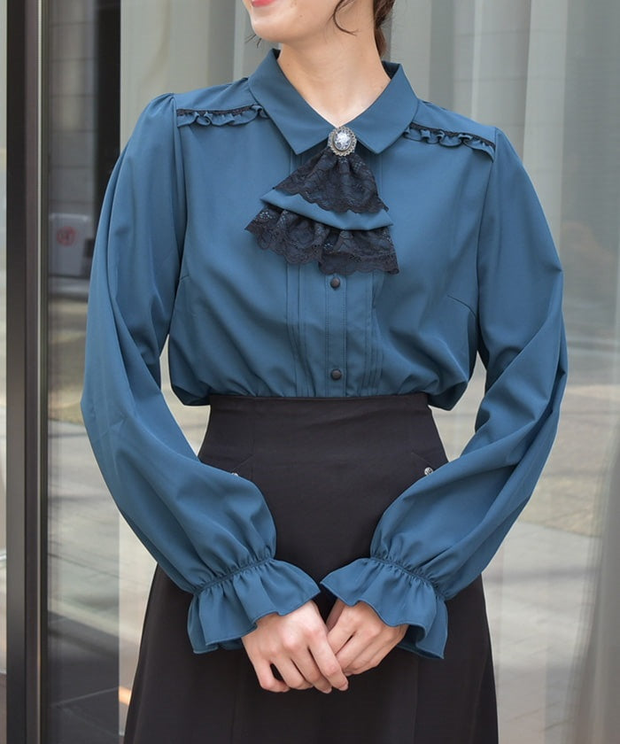
[[(506, 136), (382, 62), (393, 0), (244, 4), (281, 49), (152, 101), (97, 233), (82, 410), (159, 564), (126, 744), (491, 744), (480, 573), (557, 425), (552, 238)], [(447, 462), (428, 404), (477, 353)]]

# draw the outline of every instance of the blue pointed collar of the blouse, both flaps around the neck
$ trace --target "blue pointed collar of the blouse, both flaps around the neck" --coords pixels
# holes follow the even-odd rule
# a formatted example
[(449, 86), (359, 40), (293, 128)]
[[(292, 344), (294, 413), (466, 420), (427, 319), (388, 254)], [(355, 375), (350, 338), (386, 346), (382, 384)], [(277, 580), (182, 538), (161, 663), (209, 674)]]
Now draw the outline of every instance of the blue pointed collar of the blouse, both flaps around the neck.
[[(297, 154), (327, 140), (334, 128), (298, 93), (278, 65), (279, 50), (271, 49), (248, 84), (252, 96), (262, 105), (283, 137)], [(359, 116), (347, 123), (368, 150), (382, 152), (407, 129), (414, 119), (418, 98), (402, 66), (384, 62), (391, 81)]]

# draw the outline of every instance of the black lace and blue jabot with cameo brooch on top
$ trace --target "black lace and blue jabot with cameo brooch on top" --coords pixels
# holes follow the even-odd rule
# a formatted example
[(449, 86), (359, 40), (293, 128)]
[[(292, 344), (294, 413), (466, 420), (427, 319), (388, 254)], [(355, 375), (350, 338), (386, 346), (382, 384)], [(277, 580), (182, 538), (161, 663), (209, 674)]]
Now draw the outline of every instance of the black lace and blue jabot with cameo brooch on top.
[(263, 197), (245, 228), (261, 248), (291, 264), (317, 261), (323, 274), (398, 273), (387, 206), (356, 144), (351, 129), (334, 129), (327, 147)]

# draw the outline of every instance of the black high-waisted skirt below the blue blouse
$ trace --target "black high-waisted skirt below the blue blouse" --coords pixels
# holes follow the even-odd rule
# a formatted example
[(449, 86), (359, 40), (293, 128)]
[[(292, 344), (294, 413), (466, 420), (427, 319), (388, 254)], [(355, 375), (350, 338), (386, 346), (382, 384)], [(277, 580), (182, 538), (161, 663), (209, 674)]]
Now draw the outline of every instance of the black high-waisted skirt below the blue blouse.
[[(275, 557), (318, 583), (369, 554), (399, 494), (446, 463), (426, 396), (214, 396), (199, 457), (252, 480), (275, 522)], [(345, 692), (260, 687), (244, 648), (194, 654), (191, 595), (151, 586), (125, 744), (495, 744), (482, 581), (447, 602), (444, 659), (394, 647)], [(326, 619), (335, 597), (314, 598)]]

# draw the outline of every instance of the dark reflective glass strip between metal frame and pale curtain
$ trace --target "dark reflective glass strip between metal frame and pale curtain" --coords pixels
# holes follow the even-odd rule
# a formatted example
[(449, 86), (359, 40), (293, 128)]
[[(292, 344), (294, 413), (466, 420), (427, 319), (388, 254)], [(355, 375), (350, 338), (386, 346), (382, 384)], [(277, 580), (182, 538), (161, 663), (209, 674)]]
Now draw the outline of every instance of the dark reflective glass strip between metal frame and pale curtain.
[(49, 740), (118, 735), (118, 516), (80, 414), (89, 264), (118, 155), (119, 3), (50, 3)]

